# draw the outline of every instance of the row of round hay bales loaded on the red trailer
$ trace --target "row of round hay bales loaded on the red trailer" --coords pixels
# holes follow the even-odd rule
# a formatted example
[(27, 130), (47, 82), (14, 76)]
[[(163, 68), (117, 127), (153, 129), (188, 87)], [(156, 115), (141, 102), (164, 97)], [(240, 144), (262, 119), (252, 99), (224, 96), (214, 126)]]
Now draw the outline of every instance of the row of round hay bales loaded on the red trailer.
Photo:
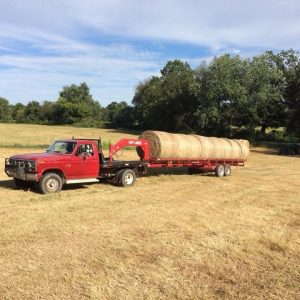
[[(249, 156), (247, 140), (144, 131), (139, 139), (148, 140), (151, 159), (241, 159)], [(142, 150), (138, 154), (143, 157)]]

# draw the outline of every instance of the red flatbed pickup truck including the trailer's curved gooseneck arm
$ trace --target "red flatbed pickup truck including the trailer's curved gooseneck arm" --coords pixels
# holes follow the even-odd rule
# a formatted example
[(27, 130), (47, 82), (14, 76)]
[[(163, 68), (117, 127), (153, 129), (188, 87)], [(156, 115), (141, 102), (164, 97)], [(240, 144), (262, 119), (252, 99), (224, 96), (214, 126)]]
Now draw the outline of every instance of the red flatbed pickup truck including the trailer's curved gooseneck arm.
[(111, 178), (120, 186), (135, 183), (137, 172), (147, 164), (137, 161), (115, 161), (112, 156), (126, 146), (143, 146), (143, 141), (123, 139), (110, 147), (105, 158), (100, 139), (55, 141), (45, 153), (15, 155), (5, 159), (5, 172), (16, 186), (38, 183), (43, 194), (59, 192), (64, 184), (99, 182)]

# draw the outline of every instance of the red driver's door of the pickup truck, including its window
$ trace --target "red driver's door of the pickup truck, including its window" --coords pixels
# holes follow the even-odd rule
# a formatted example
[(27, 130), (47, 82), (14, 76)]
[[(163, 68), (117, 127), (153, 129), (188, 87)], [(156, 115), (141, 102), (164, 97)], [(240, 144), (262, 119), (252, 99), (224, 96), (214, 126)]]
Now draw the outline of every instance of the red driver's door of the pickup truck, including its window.
[(96, 178), (99, 174), (99, 157), (92, 143), (79, 143), (71, 159), (73, 179)]

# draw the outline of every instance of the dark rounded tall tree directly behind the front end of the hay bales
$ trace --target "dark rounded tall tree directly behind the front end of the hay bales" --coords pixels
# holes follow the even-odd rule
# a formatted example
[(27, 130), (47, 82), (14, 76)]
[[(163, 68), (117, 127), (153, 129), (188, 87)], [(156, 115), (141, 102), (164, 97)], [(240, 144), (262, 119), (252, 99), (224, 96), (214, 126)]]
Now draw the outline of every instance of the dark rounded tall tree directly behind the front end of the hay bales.
[(140, 127), (168, 131), (191, 131), (195, 98), (191, 67), (180, 60), (169, 61), (161, 76), (141, 83), (133, 98)]

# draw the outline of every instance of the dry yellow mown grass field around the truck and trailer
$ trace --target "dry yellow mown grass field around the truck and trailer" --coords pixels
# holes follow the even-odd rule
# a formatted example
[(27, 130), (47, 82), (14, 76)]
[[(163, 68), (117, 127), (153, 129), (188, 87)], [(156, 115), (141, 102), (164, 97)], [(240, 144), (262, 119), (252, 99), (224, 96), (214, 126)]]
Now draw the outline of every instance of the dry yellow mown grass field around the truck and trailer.
[[(75, 132), (0, 124), (0, 144)], [(299, 157), (254, 149), (230, 177), (165, 172), (57, 195), (0, 172), (0, 299), (300, 299)]]

